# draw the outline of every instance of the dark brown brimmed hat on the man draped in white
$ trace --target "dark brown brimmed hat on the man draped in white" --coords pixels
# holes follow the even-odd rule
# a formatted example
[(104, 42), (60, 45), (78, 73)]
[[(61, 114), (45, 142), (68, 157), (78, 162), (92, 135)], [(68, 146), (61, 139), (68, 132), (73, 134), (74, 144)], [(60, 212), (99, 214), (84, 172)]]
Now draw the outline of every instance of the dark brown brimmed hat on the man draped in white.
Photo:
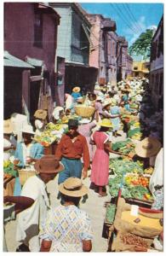
[(37, 160), (34, 167), (40, 173), (57, 173), (64, 170), (64, 166), (54, 157), (54, 154), (44, 155)]

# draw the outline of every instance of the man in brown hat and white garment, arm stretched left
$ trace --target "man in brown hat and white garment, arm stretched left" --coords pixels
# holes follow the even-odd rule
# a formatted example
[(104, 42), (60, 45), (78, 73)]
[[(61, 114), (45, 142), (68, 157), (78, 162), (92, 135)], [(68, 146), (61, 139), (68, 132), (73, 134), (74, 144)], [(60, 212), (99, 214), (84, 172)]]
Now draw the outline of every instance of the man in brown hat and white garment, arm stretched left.
[(4, 196), (4, 203), (15, 203), (17, 216), (16, 241), (23, 242), (16, 252), (38, 252), (38, 232), (49, 209), (46, 183), (53, 180), (64, 169), (54, 155), (44, 155), (35, 163), (37, 175), (29, 177), (20, 196)]

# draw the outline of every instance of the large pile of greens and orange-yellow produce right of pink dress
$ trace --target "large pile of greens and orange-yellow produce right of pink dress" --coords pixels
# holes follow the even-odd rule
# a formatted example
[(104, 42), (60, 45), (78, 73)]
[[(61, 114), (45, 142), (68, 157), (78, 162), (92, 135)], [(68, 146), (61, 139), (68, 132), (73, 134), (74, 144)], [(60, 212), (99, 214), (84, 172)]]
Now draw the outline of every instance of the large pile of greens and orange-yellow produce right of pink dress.
[(143, 177), (143, 164), (140, 161), (114, 159), (110, 160), (110, 168), (116, 175), (109, 179), (109, 192), (112, 197), (118, 195), (118, 190), (123, 184), (123, 198), (152, 201), (152, 195), (148, 189), (149, 179)]

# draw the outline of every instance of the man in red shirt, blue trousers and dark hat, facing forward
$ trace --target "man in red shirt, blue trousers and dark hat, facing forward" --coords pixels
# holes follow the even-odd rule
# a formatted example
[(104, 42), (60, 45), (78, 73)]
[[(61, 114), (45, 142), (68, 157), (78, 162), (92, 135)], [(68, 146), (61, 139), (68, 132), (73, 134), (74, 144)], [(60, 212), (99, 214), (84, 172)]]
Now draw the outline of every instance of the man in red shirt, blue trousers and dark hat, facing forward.
[[(89, 169), (89, 148), (86, 138), (77, 132), (77, 119), (69, 119), (68, 132), (64, 134), (55, 152), (55, 157), (61, 160), (65, 170), (60, 172), (58, 183), (63, 183), (68, 177), (87, 177)], [(83, 156), (83, 165), (81, 158)]]

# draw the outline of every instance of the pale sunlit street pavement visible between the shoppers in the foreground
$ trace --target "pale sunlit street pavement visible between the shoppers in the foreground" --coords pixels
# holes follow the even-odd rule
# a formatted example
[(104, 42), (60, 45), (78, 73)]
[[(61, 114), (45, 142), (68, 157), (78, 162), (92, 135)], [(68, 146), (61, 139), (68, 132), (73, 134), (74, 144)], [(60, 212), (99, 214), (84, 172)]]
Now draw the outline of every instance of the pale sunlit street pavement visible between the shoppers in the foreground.
[[(113, 142), (121, 141), (125, 138), (123, 131), (122, 137), (117, 137), (112, 139)], [(110, 154), (111, 157), (115, 157), (115, 154)], [(89, 171), (90, 174), (90, 171)], [(60, 205), (60, 201), (57, 200), (56, 196), (58, 194), (58, 184), (57, 177), (54, 181), (48, 183), (48, 191), (50, 193), (50, 202), (53, 207)], [(89, 187), (90, 178), (86, 178), (83, 183)], [(89, 189), (89, 198), (84, 203), (81, 204), (80, 208), (89, 213), (89, 217), (92, 221), (93, 231), (94, 231), (94, 241), (92, 252), (101, 253), (107, 251), (107, 239), (102, 238), (103, 223), (106, 214), (106, 207), (104, 207), (106, 201), (110, 201), (111, 196), (109, 195), (107, 187), (107, 196), (99, 197), (94, 190)], [(6, 241), (9, 252), (14, 252), (15, 248), (19, 245), (15, 241), (15, 230), (16, 230), (16, 221), (11, 221), (6, 224)]]

